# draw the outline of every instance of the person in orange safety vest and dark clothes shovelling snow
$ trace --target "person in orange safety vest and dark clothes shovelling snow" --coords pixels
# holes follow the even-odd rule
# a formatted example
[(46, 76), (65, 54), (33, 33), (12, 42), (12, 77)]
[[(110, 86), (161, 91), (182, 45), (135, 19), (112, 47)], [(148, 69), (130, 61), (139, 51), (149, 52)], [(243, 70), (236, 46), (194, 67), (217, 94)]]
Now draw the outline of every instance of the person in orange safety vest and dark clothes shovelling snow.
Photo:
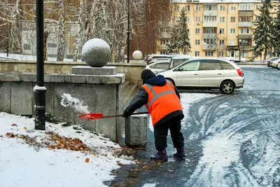
[(171, 81), (164, 76), (155, 76), (153, 71), (145, 69), (141, 73), (144, 85), (123, 112), (123, 117), (132, 115), (134, 111), (146, 106), (151, 115), (155, 148), (158, 153), (151, 155), (151, 160), (167, 161), (167, 134), (170, 130), (174, 148), (174, 158), (186, 158), (184, 151), (184, 138), (181, 133), (181, 120), (184, 118), (180, 102), (180, 94)]

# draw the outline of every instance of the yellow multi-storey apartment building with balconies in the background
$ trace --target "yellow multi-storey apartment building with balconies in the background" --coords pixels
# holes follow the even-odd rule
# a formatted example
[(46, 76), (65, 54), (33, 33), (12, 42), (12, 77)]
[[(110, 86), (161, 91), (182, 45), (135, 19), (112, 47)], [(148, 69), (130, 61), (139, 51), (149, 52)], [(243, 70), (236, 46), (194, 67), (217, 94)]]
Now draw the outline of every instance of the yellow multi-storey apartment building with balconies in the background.
[[(272, 1), (276, 12), (276, 1)], [(172, 3), (172, 25), (179, 22), (186, 9), (191, 52), (199, 57), (244, 57), (253, 52), (253, 21), (260, 15), (260, 0), (177, 0)], [(171, 34), (162, 32), (157, 41), (157, 53), (166, 54)], [(240, 51), (240, 54), (239, 54)]]

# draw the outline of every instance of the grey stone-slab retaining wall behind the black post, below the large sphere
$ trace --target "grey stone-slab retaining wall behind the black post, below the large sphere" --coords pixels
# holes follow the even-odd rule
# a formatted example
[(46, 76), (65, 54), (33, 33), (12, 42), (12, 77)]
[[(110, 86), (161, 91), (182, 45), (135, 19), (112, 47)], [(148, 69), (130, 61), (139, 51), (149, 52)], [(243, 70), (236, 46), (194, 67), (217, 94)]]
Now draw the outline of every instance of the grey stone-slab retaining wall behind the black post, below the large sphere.
[[(63, 93), (77, 97), (92, 113), (116, 115), (121, 111), (121, 84), (125, 74), (113, 76), (45, 74), (46, 112), (53, 119), (85, 125), (88, 130), (105, 134), (118, 142), (122, 130), (122, 118), (84, 120), (72, 108), (60, 104)], [(36, 74), (0, 73), (0, 111), (21, 115), (34, 115)]]

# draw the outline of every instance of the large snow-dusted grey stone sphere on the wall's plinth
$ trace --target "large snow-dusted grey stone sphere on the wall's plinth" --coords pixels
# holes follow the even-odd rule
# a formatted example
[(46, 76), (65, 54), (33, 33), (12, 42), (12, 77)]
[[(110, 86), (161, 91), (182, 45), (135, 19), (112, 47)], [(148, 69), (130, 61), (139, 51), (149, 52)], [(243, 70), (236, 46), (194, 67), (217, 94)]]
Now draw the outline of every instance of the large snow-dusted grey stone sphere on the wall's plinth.
[(90, 67), (104, 67), (111, 59), (111, 49), (102, 39), (90, 39), (83, 45), (82, 55)]

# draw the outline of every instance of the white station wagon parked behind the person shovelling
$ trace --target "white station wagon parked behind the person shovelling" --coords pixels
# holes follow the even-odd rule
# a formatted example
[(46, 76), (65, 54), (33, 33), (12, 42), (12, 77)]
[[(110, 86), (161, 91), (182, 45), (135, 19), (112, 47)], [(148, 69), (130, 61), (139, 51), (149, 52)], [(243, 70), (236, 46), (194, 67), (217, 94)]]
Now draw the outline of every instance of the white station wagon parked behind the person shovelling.
[(198, 58), (158, 74), (172, 81), (179, 89), (220, 89), (232, 94), (235, 88), (243, 88), (243, 71), (235, 62), (220, 58)]

